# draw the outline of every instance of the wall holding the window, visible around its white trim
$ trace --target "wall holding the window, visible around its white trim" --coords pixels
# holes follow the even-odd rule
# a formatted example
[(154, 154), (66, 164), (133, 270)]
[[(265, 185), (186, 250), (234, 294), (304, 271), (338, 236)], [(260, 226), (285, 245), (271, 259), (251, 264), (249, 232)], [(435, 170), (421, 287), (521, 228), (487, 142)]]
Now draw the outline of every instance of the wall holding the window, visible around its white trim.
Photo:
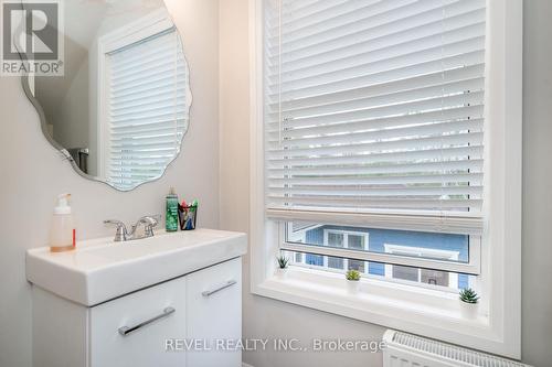
[[(248, 203), (248, 8), (221, 1), (221, 226), (247, 229)], [(524, 208), (522, 357), (535, 367), (552, 360), (552, 1), (524, 2)], [(238, 212), (237, 212), (238, 211)], [(237, 213), (237, 214), (236, 214)], [(256, 244), (251, 244), (255, 246)], [(248, 283), (248, 259), (244, 283)], [(376, 339), (384, 327), (261, 296), (244, 287), (244, 337)], [(382, 366), (381, 355), (245, 353), (255, 367)]]

